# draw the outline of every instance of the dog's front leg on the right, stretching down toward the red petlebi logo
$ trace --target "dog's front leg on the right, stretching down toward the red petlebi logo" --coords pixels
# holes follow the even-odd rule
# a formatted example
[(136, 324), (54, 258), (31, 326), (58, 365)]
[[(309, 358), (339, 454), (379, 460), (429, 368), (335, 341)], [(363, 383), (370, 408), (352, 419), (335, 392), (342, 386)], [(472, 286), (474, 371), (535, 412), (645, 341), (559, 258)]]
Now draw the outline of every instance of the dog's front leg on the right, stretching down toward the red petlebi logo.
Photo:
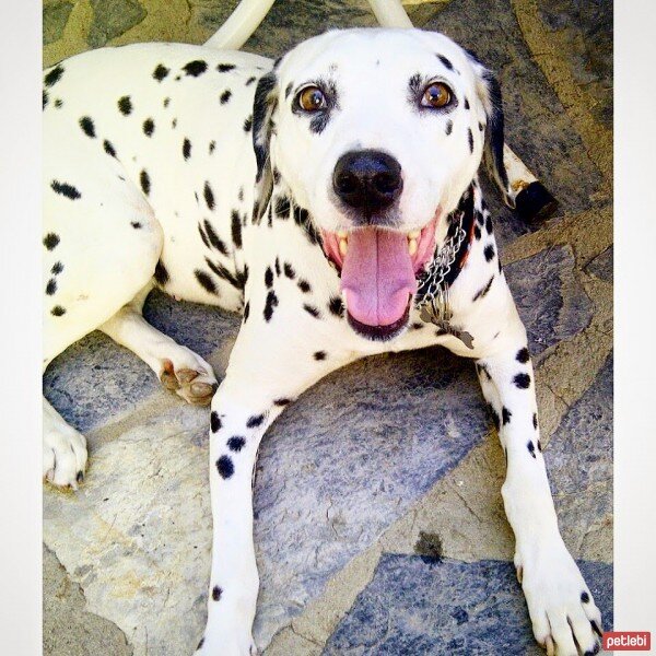
[(503, 350), (479, 360), (477, 372), (506, 456), (502, 496), (516, 539), (517, 577), (534, 634), (548, 654), (596, 654), (601, 616), (560, 535), (520, 324), (514, 335)]

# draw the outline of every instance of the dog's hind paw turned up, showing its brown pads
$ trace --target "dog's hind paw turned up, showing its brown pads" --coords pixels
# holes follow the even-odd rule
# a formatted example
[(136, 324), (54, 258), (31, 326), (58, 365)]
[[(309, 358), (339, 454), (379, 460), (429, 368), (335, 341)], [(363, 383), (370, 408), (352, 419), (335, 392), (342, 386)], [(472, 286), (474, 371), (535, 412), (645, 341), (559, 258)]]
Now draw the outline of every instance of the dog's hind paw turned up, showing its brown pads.
[(176, 347), (172, 359), (162, 361), (160, 380), (166, 389), (194, 406), (209, 405), (219, 387), (212, 367), (194, 351)]

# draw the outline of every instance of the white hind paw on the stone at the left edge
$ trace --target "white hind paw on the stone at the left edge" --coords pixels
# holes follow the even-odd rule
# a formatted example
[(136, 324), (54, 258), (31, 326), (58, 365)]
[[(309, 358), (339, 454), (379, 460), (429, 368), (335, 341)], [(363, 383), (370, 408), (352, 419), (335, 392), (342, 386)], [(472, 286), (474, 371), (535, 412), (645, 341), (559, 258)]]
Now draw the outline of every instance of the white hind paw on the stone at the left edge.
[(44, 426), (44, 479), (58, 488), (78, 489), (86, 467), (86, 440), (75, 429), (57, 422)]

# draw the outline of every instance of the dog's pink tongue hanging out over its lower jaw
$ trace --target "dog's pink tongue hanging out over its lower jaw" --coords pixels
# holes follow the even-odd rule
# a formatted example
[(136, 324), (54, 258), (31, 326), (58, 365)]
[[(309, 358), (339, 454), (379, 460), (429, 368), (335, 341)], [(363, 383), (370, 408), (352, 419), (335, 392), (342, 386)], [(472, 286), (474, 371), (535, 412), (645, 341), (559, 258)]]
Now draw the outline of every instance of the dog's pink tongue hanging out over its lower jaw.
[(351, 232), (341, 286), (355, 320), (367, 326), (398, 321), (417, 291), (406, 235), (375, 227)]

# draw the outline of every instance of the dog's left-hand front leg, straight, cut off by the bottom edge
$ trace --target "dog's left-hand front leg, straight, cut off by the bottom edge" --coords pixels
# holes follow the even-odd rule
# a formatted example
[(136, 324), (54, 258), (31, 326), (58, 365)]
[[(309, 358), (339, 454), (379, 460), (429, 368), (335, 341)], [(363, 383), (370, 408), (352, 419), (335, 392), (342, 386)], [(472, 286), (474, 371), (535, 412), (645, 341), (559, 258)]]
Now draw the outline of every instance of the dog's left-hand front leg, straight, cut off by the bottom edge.
[(265, 335), (244, 333), (242, 328), (225, 379), (212, 400), (212, 570), (208, 623), (197, 654), (256, 654), (251, 626), (259, 577), (253, 543), (251, 481), (258, 446), (288, 403), (351, 360), (331, 350), (330, 359), (318, 361), (307, 352), (307, 340), (298, 342), (293, 335), (278, 332), (271, 343), (273, 330), (265, 328)]

